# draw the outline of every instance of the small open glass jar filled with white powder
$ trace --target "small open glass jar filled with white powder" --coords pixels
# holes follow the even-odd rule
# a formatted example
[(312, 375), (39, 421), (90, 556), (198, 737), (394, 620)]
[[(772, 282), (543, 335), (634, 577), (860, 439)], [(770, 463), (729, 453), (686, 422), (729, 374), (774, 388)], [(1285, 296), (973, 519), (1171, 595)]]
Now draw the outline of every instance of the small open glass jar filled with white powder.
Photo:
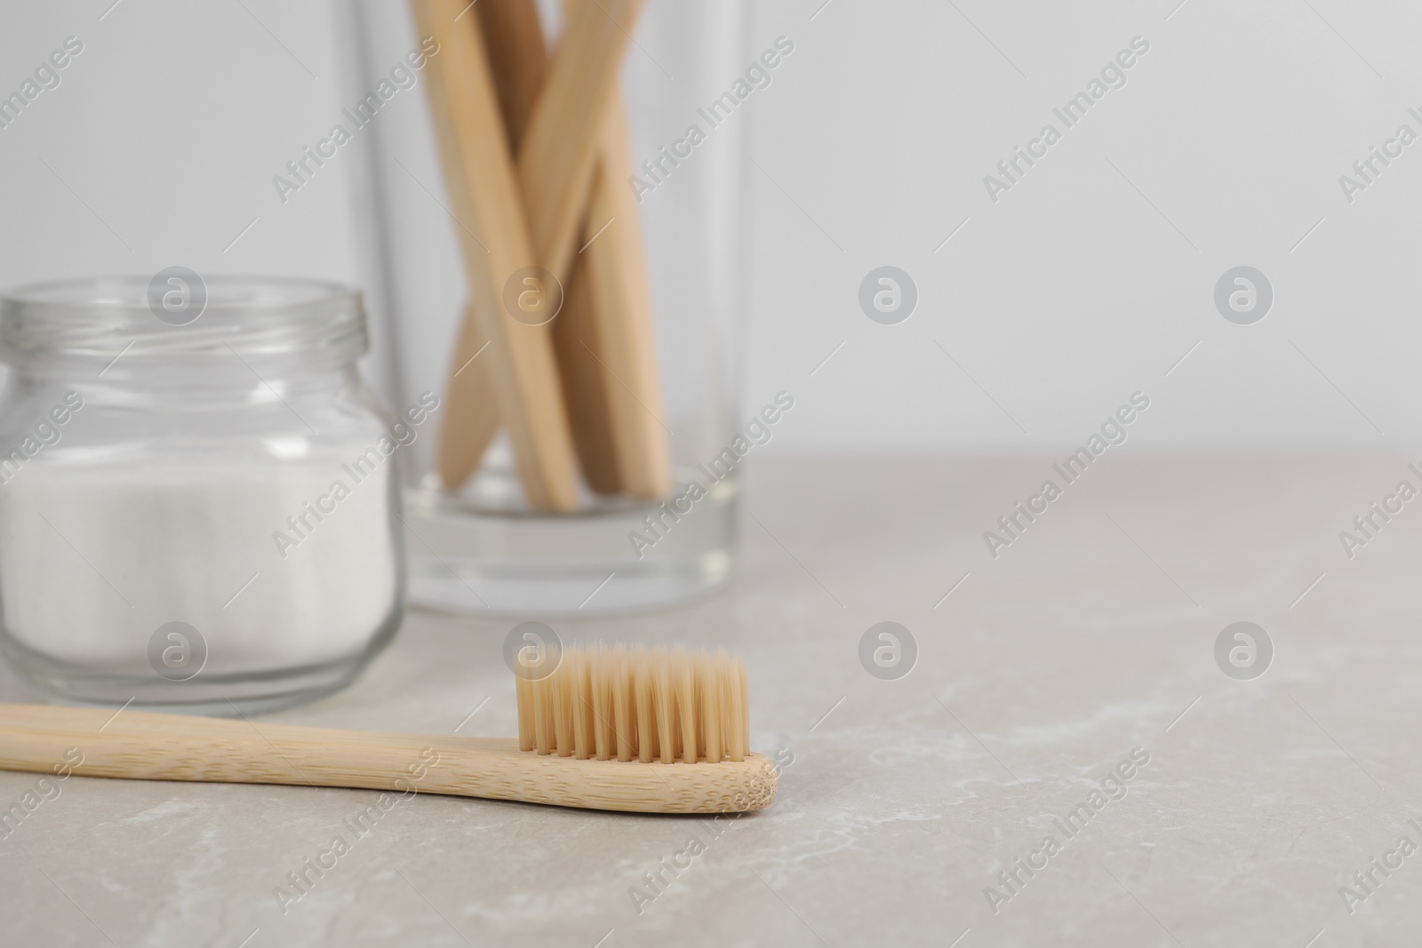
[(235, 715), (346, 685), (404, 608), (356, 290), (173, 267), (0, 297), (0, 648), (47, 696)]

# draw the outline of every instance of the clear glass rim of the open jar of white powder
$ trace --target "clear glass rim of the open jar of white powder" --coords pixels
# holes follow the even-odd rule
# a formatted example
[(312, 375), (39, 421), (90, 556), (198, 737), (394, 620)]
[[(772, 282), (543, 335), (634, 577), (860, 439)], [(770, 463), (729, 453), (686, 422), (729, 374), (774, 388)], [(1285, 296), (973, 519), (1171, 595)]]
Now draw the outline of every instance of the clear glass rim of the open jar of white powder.
[(0, 360), (37, 354), (112, 358), (236, 351), (365, 352), (360, 290), (301, 277), (215, 276), (169, 267), (154, 277), (31, 283), (0, 293)]

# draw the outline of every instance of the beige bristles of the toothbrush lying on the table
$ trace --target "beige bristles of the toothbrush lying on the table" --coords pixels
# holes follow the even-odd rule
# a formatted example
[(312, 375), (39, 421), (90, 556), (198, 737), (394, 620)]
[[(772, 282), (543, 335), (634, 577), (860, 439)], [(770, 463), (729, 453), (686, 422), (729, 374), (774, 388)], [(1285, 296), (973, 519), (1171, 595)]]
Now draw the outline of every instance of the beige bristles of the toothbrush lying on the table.
[(569, 645), (515, 674), (519, 748), (579, 760), (697, 763), (749, 753), (745, 662), (724, 651)]

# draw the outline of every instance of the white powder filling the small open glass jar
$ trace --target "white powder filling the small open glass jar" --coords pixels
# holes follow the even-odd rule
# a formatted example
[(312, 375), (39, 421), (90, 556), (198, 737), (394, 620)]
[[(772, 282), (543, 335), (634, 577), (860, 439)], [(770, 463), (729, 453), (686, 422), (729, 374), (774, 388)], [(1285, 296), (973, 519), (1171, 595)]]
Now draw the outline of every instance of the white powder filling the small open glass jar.
[(4, 625), (51, 659), (119, 674), (152, 672), (149, 638), (171, 621), (202, 634), (205, 675), (351, 657), (397, 608), (394, 462), (353, 469), (367, 448), (158, 463), (41, 455), (0, 486)]

